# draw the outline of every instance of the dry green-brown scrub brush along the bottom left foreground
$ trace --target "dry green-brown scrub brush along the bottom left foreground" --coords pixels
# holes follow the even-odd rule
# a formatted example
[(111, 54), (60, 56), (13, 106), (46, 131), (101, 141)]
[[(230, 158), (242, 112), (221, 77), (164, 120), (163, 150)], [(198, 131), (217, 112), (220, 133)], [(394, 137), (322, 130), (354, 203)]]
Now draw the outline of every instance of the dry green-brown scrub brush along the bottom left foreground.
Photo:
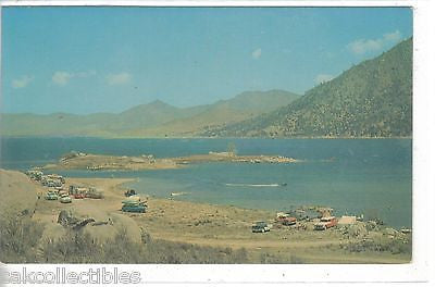
[(153, 240), (142, 232), (141, 242), (132, 241), (126, 232), (99, 242), (89, 234), (67, 229), (53, 240), (40, 242), (44, 225), (29, 216), (0, 219), (0, 261), (7, 263), (247, 263), (245, 249), (201, 247)]

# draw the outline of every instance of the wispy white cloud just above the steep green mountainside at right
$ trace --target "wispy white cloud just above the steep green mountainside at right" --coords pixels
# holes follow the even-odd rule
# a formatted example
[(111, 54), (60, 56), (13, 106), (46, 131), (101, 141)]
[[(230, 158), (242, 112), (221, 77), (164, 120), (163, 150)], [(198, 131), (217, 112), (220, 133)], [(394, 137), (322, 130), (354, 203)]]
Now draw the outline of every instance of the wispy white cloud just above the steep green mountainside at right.
[(347, 48), (355, 54), (364, 54), (366, 52), (378, 51), (385, 46), (396, 43), (402, 38), (399, 30), (387, 33), (378, 39), (358, 39), (347, 45)]

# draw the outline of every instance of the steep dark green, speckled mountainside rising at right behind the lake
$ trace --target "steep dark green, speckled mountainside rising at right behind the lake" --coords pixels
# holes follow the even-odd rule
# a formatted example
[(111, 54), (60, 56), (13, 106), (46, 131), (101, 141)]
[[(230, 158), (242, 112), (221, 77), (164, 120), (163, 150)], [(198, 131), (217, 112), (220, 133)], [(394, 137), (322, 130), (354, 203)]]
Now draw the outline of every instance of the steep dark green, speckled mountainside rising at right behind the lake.
[(412, 134), (412, 38), (290, 104), (203, 136), (396, 137)]

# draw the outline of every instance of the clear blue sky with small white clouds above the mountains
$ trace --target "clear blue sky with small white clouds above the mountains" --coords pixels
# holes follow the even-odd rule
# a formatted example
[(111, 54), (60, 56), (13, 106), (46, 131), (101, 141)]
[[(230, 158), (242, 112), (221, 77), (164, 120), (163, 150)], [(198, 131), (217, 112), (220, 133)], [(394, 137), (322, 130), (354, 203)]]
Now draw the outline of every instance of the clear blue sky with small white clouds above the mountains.
[(2, 113), (302, 95), (412, 36), (409, 8), (3, 8)]

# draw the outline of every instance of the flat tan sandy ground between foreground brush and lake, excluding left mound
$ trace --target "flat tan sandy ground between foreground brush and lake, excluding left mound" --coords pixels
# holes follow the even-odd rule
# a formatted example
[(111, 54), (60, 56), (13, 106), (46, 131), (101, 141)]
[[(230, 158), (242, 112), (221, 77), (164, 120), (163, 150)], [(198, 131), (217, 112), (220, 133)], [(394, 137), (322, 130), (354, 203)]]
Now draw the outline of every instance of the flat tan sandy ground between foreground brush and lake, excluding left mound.
[[(104, 198), (73, 199), (69, 204), (39, 199), (34, 219), (55, 225), (59, 212), (64, 209), (99, 217), (100, 221), (108, 220), (108, 216), (128, 217), (132, 221), (122, 221), (122, 224), (130, 225), (130, 230), (139, 227), (152, 238), (170, 241), (245, 248), (252, 262), (259, 262), (260, 257), (263, 257), (263, 260), (264, 257), (273, 257), (303, 263), (407, 263), (411, 260), (410, 253), (394, 254), (373, 250), (351, 252), (347, 248), (368, 240), (393, 240), (391, 236), (385, 233), (385, 228), (349, 236), (339, 228), (325, 232), (312, 230), (312, 225), (310, 226), (312, 223), (307, 223), (306, 229), (274, 224), (269, 233), (253, 234), (251, 224), (254, 221), (273, 224), (276, 213), (154, 197), (147, 199), (148, 212), (124, 213), (121, 211), (121, 201), (125, 199), (125, 188), (122, 184), (128, 180), (132, 179), (67, 178), (65, 186), (94, 186), (103, 190)], [(135, 236), (139, 236), (138, 233)], [(410, 241), (408, 237), (403, 238)]]

